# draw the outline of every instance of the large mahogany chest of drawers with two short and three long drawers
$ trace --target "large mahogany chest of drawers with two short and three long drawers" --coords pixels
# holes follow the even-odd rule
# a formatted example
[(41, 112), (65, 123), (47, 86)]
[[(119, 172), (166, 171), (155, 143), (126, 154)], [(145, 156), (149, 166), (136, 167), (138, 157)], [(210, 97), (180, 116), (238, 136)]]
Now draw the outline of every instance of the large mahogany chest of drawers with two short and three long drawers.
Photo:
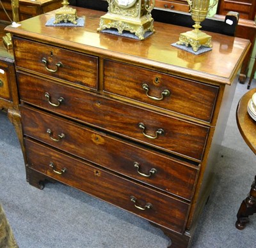
[(97, 33), (104, 13), (77, 10), (85, 27), (45, 27), (52, 12), (7, 28), (28, 182), (81, 189), (187, 247), (250, 41), (212, 33), (196, 56), (171, 46), (186, 27), (155, 22), (138, 41)]

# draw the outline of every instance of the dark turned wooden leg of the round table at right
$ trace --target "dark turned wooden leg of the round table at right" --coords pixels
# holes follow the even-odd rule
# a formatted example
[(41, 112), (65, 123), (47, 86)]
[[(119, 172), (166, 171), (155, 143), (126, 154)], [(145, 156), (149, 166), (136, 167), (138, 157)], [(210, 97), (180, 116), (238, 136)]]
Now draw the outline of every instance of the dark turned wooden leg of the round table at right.
[(246, 223), (249, 222), (249, 215), (253, 215), (256, 212), (256, 175), (253, 181), (250, 193), (247, 198), (243, 200), (241, 206), (237, 212), (236, 228), (243, 230)]

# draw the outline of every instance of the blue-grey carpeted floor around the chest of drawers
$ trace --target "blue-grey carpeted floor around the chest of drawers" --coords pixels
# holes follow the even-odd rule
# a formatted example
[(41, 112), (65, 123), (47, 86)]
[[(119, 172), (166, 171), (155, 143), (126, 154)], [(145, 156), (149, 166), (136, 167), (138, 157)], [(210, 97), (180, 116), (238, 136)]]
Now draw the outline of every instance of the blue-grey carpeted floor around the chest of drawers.
[[(256, 87), (255, 81), (252, 87)], [(256, 174), (255, 155), (236, 126), (236, 106), (246, 91), (246, 84), (237, 84), (216, 164), (214, 189), (191, 247), (256, 246), (256, 214), (243, 231), (235, 227), (237, 210)], [(20, 248), (161, 248), (169, 242), (161, 230), (147, 221), (76, 189), (58, 183), (47, 184), (43, 191), (29, 186), (19, 142), (3, 112), (0, 202)]]

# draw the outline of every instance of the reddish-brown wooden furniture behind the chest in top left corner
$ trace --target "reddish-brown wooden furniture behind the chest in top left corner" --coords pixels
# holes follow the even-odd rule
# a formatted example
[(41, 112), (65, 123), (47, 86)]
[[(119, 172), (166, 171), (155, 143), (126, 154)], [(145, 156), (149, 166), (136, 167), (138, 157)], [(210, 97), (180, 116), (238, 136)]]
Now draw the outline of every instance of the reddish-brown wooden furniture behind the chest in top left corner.
[[(5, 10), (8, 15), (12, 18), (12, 4), (11, 0), (1, 0)], [(26, 20), (36, 15), (41, 15), (42, 13), (49, 12), (51, 10), (56, 10), (60, 8), (62, 0), (19, 0), (19, 20)], [(9, 18), (4, 13), (4, 10), (0, 4), (0, 16), (1, 20), (10, 22)]]

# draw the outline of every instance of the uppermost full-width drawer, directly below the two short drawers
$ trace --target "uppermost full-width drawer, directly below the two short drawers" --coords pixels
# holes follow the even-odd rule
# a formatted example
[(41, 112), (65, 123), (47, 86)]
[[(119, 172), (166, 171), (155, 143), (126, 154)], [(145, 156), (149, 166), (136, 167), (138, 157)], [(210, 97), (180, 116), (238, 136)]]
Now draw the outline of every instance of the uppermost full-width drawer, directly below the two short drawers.
[[(167, 152), (196, 161), (202, 159), (209, 132), (205, 126), (125, 105), (42, 78), (21, 73), (17, 77), (22, 101)], [(59, 106), (52, 106), (49, 101)]]

